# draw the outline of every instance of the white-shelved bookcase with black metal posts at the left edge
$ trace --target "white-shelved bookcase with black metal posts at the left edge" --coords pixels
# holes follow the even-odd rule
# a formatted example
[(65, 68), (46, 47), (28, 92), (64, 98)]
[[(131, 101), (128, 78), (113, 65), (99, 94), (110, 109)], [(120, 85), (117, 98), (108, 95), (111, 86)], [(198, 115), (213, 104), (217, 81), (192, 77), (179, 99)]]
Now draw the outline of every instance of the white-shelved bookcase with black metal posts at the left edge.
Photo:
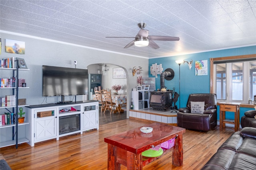
[[(18, 144), (20, 143), (26, 143), (29, 140), (26, 139), (26, 126), (28, 126), (28, 122), (26, 121), (26, 115), (24, 123), (18, 123), (18, 107), (24, 107), (24, 106), (29, 106), (29, 105), (22, 105), (18, 106), (18, 94), (19, 94), (19, 89), (21, 88), (29, 88), (29, 87), (18, 87), (18, 79), (19, 79), (19, 71), (20, 70), (29, 70), (29, 69), (20, 69), (18, 68), (18, 60), (16, 60), (16, 68), (0, 68), (1, 70), (7, 70), (10, 71), (12, 70), (12, 76), (15, 77), (15, 86), (16, 87), (2, 87), (0, 90), (7, 90), (11, 89), (12, 90), (12, 95), (16, 95), (16, 105), (15, 106), (4, 106), (0, 107), (0, 109), (6, 109), (8, 110), (9, 108), (12, 109), (12, 113), (16, 113), (15, 116), (15, 123), (14, 124), (7, 124), (7, 125), (0, 125), (0, 148), (2, 147), (8, 147), (11, 145), (16, 145), (16, 149), (18, 149)], [(4, 97), (4, 96), (0, 96)], [(8, 110), (9, 111), (9, 110)], [(2, 111), (1, 111), (2, 114)], [(12, 134), (12, 135), (10, 135)]]

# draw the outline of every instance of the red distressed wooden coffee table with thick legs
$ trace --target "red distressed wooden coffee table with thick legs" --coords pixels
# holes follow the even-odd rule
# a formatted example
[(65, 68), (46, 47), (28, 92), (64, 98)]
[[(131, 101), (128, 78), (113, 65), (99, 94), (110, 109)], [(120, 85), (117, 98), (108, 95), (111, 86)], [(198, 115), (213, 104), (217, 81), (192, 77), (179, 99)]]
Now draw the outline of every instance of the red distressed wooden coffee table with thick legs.
[(120, 164), (126, 166), (127, 170), (142, 170), (144, 165), (158, 158), (142, 158), (142, 152), (174, 137), (176, 139), (172, 148), (172, 164), (182, 166), (182, 134), (186, 129), (164, 123), (152, 123), (145, 126), (152, 127), (153, 131), (142, 133), (141, 127), (137, 127), (104, 138), (104, 141), (108, 143), (108, 170), (120, 170)]

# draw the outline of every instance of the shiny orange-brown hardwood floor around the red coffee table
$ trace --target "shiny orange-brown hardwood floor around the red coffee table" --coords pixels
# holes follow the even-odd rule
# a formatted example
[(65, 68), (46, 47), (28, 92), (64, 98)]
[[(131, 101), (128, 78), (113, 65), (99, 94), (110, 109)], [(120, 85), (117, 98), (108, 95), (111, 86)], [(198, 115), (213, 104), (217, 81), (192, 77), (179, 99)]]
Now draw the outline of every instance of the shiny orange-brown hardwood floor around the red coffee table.
[[(86, 131), (36, 143), (4, 147), (0, 153), (12, 170), (106, 170), (107, 144), (104, 137), (147, 125), (148, 122), (124, 119), (100, 125), (99, 130)], [(183, 135), (183, 166), (172, 165), (172, 152), (143, 167), (143, 170), (198, 170), (210, 159), (218, 147), (230, 137), (233, 129), (217, 126), (209, 132), (187, 130)], [(121, 166), (125, 170), (125, 166)]]

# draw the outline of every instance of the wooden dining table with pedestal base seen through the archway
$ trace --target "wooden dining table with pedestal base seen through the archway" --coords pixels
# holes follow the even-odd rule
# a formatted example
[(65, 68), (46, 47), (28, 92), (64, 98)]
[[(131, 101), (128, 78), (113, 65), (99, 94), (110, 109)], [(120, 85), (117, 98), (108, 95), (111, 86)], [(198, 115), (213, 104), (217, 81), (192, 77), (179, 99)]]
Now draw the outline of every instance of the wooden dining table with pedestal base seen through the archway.
[[(95, 94), (92, 95), (92, 99), (97, 100)], [(122, 106), (126, 105), (127, 96), (124, 94), (117, 94), (117, 95), (111, 94), (111, 99), (112, 99), (112, 103), (116, 104), (116, 109), (113, 111), (113, 113), (124, 112), (124, 110), (122, 109)], [(105, 101), (104, 94), (102, 94), (102, 101)]]

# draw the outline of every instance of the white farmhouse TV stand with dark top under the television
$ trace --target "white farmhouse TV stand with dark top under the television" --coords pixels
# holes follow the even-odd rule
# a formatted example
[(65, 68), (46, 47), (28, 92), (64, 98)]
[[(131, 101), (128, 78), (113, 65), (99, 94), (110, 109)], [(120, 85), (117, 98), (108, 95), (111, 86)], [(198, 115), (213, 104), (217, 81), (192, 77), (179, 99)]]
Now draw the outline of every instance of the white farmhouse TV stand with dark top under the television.
[[(26, 128), (26, 138), (28, 144), (34, 146), (35, 143), (49, 139), (59, 140), (60, 137), (72, 135), (74, 133), (82, 134), (83, 131), (90, 129), (99, 129), (99, 103), (95, 100), (83, 102), (74, 102), (71, 104), (43, 104), (26, 106), (26, 117), (30, 126)], [(71, 109), (76, 111), (60, 112), (62, 109)], [(46, 117), (40, 113), (46, 113)], [(60, 132), (60, 117), (76, 115), (80, 116), (80, 128), (68, 133)], [(65, 127), (64, 127), (65, 128)]]

